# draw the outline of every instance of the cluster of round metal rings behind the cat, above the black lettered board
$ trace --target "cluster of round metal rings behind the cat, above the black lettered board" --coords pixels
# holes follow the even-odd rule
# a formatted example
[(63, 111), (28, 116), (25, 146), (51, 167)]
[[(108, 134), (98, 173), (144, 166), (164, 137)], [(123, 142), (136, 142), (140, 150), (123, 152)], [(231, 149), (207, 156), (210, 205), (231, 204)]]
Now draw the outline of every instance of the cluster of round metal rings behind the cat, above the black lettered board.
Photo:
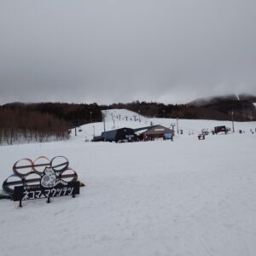
[[(3, 190), (13, 194), (15, 186), (39, 184), (41, 177), (44, 175), (45, 167), (51, 167), (57, 177), (66, 182), (77, 181), (78, 174), (68, 166), (69, 162), (65, 156), (55, 156), (52, 160), (45, 156), (39, 156), (34, 161), (29, 158), (17, 160), (13, 166), (14, 174), (3, 182)], [(42, 167), (43, 169), (40, 171)]]

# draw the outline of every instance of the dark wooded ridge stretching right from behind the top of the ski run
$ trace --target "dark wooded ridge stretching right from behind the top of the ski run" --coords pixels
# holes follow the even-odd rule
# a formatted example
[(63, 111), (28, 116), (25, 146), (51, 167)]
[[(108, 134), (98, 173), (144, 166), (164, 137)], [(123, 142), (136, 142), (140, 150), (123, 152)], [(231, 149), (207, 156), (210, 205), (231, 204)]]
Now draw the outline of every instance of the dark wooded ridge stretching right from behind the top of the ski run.
[(102, 106), (102, 109), (126, 108), (147, 117), (180, 119), (217, 119), (236, 121), (256, 120), (256, 111), (252, 102), (225, 100), (196, 107), (191, 104), (163, 104), (158, 102), (116, 103)]

